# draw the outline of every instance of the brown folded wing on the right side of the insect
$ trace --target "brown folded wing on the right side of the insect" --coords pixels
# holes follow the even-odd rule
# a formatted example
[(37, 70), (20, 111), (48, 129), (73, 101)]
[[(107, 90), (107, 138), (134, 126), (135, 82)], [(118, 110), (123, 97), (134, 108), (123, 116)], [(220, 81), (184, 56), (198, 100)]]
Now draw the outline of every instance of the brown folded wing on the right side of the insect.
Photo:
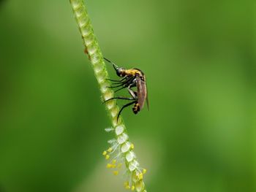
[(142, 110), (144, 106), (144, 102), (147, 97), (146, 82), (141, 80), (139, 75), (136, 75), (136, 80), (137, 80), (138, 104), (140, 106), (140, 110)]

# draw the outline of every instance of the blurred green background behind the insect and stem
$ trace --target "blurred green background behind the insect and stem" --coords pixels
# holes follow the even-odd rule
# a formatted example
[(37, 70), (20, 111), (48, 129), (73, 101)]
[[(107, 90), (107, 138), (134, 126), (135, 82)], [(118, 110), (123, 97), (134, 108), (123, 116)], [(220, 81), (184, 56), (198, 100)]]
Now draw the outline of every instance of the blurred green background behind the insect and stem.
[[(148, 191), (256, 191), (255, 4), (86, 5), (105, 57), (146, 74), (150, 110), (123, 118)], [(0, 64), (0, 191), (126, 191), (69, 1), (0, 1)]]

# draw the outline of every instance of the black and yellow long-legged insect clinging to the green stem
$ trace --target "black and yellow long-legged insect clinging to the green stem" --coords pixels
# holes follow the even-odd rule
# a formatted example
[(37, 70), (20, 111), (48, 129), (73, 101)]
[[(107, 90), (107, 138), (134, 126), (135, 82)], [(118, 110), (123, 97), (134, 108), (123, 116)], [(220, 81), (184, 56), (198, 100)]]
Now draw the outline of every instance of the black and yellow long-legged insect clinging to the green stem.
[[(116, 64), (109, 61), (108, 58), (104, 58), (104, 59), (113, 65), (113, 68), (115, 69), (118, 77), (122, 77), (121, 80), (108, 79), (113, 82), (113, 86), (110, 86), (109, 88), (118, 88), (115, 92), (120, 91), (121, 89), (127, 88), (127, 90), (129, 91), (129, 94), (132, 96), (130, 98), (117, 96), (105, 101), (107, 102), (112, 99), (123, 99), (123, 100), (131, 101), (128, 104), (124, 104), (124, 106), (121, 107), (121, 110), (118, 112), (117, 121), (118, 121), (119, 115), (121, 114), (121, 111), (124, 110), (125, 107), (129, 107), (130, 105), (134, 104), (134, 106), (132, 107), (132, 111), (135, 114), (137, 114), (140, 110), (143, 109), (145, 101), (148, 107), (148, 92), (146, 87), (145, 74), (140, 69), (136, 69), (136, 68), (124, 69), (123, 67), (118, 67)], [(133, 87), (136, 87), (137, 90), (133, 91), (132, 90)]]

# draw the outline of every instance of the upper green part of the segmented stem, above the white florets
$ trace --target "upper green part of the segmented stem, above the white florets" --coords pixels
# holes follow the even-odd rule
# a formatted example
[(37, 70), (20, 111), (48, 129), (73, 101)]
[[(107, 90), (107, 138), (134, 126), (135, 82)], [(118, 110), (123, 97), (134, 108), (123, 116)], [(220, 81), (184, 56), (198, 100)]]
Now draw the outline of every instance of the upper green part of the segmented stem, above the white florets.
[[(108, 88), (110, 83), (108, 82), (109, 76), (105, 66), (105, 62), (102, 57), (102, 52), (99, 48), (96, 37), (94, 36), (94, 30), (91, 26), (91, 21), (86, 12), (86, 6), (82, 0), (70, 0), (72, 9), (75, 14), (75, 18), (78, 23), (80, 34), (83, 38), (83, 45), (85, 46), (85, 52), (89, 55), (89, 60), (94, 69), (95, 77), (99, 83), (99, 89), (102, 93), (102, 99), (107, 100), (113, 97), (113, 91)], [(108, 101), (106, 103), (107, 111), (112, 119), (113, 126), (117, 126), (116, 116), (118, 115), (118, 106), (115, 101)], [(121, 122), (118, 120), (118, 122)], [(119, 123), (120, 124), (120, 123)]]

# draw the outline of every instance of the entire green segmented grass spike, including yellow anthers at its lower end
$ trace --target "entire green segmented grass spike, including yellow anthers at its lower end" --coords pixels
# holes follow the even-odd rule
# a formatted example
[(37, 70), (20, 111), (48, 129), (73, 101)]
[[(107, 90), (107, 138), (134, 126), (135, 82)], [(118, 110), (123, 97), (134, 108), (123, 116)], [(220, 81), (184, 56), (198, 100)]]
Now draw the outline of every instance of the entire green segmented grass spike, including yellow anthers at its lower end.
[[(110, 82), (107, 80), (109, 78), (108, 72), (97, 39), (94, 36), (94, 30), (91, 26), (91, 21), (86, 11), (86, 5), (84, 4), (83, 0), (70, 0), (70, 4), (75, 14), (80, 34), (83, 38), (85, 53), (89, 55), (95, 77), (99, 83), (99, 90), (102, 93), (102, 99), (105, 101), (112, 98), (114, 93), (110, 88), (108, 88), (108, 86), (110, 86)], [(114, 152), (112, 152), (112, 150), (117, 149), (118, 155), (121, 156), (120, 159), (122, 162), (124, 162), (125, 169), (130, 175), (129, 183), (126, 183), (125, 187), (132, 190), (136, 189), (136, 191), (146, 191), (143, 183), (143, 174), (146, 173), (146, 169), (141, 169), (138, 166), (139, 164), (136, 155), (133, 152), (134, 145), (129, 142), (127, 129), (124, 126), (122, 118), (119, 117), (117, 122), (119, 108), (116, 105), (116, 101), (113, 99), (106, 102), (105, 105), (116, 134), (116, 142), (115, 146), (110, 147), (103, 153), (103, 155), (105, 155), (105, 158), (108, 159), (110, 158), (110, 154)], [(116, 160), (114, 160), (114, 162), (116, 164)], [(116, 167), (116, 165), (108, 164), (107, 167), (113, 168)], [(118, 172), (115, 171), (114, 174), (118, 174)]]

